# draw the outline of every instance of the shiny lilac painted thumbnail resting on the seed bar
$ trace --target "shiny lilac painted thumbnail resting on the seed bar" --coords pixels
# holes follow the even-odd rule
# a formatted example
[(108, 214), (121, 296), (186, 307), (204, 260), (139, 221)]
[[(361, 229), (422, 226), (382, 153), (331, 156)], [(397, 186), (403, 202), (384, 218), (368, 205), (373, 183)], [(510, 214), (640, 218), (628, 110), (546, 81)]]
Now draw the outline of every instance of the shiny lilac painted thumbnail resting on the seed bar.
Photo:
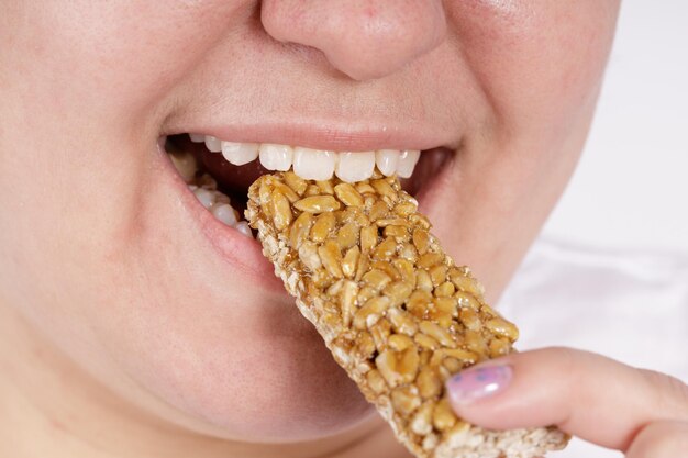
[(482, 366), (466, 369), (446, 382), (454, 404), (469, 404), (502, 391), (511, 381), (511, 366)]

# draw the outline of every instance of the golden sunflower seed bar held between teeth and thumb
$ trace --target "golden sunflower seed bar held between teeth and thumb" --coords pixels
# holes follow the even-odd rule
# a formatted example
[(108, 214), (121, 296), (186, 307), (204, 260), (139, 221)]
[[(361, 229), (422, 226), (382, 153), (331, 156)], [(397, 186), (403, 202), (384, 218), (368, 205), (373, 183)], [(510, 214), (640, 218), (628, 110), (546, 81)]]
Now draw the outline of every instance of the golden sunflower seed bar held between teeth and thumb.
[(456, 417), (444, 381), (512, 351), (517, 327), (484, 302), (399, 181), (264, 175), (246, 217), (301, 313), (393, 432), (422, 458), (526, 458), (561, 449), (554, 427), (491, 432)]

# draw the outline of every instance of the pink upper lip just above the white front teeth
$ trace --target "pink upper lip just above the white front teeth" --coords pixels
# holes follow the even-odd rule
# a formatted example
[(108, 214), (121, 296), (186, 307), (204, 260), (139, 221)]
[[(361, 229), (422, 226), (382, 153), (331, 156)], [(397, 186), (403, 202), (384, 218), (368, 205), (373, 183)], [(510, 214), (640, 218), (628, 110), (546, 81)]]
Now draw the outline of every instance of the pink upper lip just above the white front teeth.
[[(419, 123), (422, 124), (422, 123)], [(435, 132), (423, 125), (387, 125), (357, 122), (346, 125), (332, 123), (286, 124), (280, 122), (231, 125), (170, 125), (163, 135), (193, 133), (211, 135), (230, 142), (275, 143), (334, 152), (368, 152), (377, 149), (419, 149), (437, 147), (456, 149), (456, 134)], [(451, 135), (451, 137), (450, 137)]]

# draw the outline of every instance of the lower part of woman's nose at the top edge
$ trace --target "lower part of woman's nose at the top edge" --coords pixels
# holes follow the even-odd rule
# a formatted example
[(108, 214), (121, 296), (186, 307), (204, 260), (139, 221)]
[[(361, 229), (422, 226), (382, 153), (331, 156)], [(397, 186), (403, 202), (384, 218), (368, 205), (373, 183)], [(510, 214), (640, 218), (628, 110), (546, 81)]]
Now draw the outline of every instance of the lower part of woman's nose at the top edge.
[(264, 0), (260, 8), (270, 36), (319, 49), (355, 80), (398, 71), (446, 34), (442, 0)]

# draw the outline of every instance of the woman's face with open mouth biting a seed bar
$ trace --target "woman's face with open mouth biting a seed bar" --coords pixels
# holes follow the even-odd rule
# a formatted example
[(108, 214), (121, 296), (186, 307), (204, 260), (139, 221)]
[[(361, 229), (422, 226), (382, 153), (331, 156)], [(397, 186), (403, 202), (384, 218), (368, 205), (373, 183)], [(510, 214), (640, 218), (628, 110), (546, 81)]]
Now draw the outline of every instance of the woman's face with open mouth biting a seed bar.
[(368, 406), (163, 138), (448, 148), (421, 153), (420, 205), (495, 300), (577, 160), (618, 9), (2, 3), (0, 303), (125, 402), (249, 442), (332, 435)]

